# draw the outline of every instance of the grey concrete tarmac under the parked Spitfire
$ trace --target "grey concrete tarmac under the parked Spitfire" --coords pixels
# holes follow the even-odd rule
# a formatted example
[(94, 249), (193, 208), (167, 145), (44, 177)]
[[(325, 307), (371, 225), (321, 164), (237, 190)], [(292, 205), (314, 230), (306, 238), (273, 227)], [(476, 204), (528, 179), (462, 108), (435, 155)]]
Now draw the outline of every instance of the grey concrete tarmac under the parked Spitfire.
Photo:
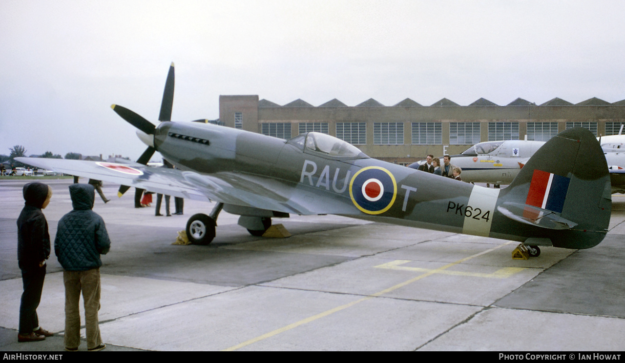
[[(54, 239), (71, 210), (72, 180), (42, 182), (54, 191), (44, 209)], [(54, 251), (37, 312), (56, 334), (17, 342), (25, 183), (0, 179), (0, 351), (63, 351)], [(222, 212), (212, 244), (174, 246), (187, 218), (212, 204), (186, 200), (184, 216), (156, 217), (156, 200), (135, 209), (133, 189), (121, 199), (118, 186), (103, 189), (113, 199), (104, 204), (96, 194), (94, 207), (112, 241), (101, 267), (105, 351), (625, 350), (620, 194), (599, 246), (543, 247), (521, 261), (511, 258), (517, 242), (337, 216), (274, 219), (292, 237), (267, 239)]]

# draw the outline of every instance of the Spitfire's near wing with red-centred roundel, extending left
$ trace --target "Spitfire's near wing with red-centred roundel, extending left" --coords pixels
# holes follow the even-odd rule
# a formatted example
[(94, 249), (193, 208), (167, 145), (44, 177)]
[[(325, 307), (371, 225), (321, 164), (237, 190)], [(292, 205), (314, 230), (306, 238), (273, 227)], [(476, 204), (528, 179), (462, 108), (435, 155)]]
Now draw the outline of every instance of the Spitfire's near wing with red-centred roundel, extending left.
[(63, 174), (113, 182), (169, 196), (217, 201), (295, 214), (354, 214), (351, 199), (296, 183), (239, 172), (200, 174), (137, 163), (18, 157), (17, 161)]

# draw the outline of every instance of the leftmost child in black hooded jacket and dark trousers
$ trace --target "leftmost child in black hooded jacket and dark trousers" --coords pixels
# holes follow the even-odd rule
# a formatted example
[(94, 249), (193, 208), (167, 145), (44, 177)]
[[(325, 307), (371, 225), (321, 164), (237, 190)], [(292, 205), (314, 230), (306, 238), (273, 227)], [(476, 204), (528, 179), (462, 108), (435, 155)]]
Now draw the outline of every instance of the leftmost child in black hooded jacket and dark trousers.
[(53, 334), (41, 329), (37, 307), (46, 277), (46, 260), (50, 257), (50, 236), (46, 216), (52, 189), (39, 182), (24, 186), (24, 208), (17, 218), (17, 262), (22, 270), (24, 293), (19, 305), (18, 342), (36, 342)]

